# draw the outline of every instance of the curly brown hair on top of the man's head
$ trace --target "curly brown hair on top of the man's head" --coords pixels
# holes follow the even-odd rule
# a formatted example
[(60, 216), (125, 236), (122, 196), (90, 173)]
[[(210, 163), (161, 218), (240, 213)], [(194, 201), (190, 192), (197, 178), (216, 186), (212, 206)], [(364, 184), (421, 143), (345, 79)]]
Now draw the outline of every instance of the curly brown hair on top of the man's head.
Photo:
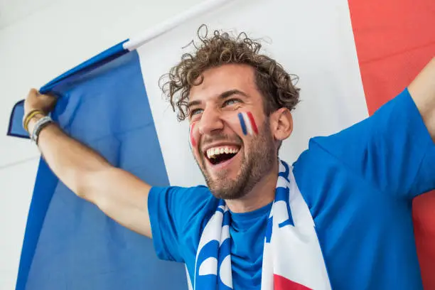
[(178, 121), (188, 117), (190, 88), (203, 82), (203, 72), (230, 63), (254, 68), (255, 82), (263, 95), (264, 113), (267, 116), (281, 107), (290, 110), (296, 107), (299, 102), (299, 88), (293, 82), (298, 80), (297, 75), (286, 73), (276, 60), (260, 54), (262, 45), (258, 41), (248, 38), (246, 33), (232, 37), (229, 33), (214, 31), (213, 36), (208, 37), (208, 28), (205, 25), (198, 28), (197, 35), (200, 46), (195, 45), (194, 41), (190, 42), (196, 48), (195, 53), (184, 53), (180, 63), (159, 80), (161, 90), (173, 111), (178, 110)]

